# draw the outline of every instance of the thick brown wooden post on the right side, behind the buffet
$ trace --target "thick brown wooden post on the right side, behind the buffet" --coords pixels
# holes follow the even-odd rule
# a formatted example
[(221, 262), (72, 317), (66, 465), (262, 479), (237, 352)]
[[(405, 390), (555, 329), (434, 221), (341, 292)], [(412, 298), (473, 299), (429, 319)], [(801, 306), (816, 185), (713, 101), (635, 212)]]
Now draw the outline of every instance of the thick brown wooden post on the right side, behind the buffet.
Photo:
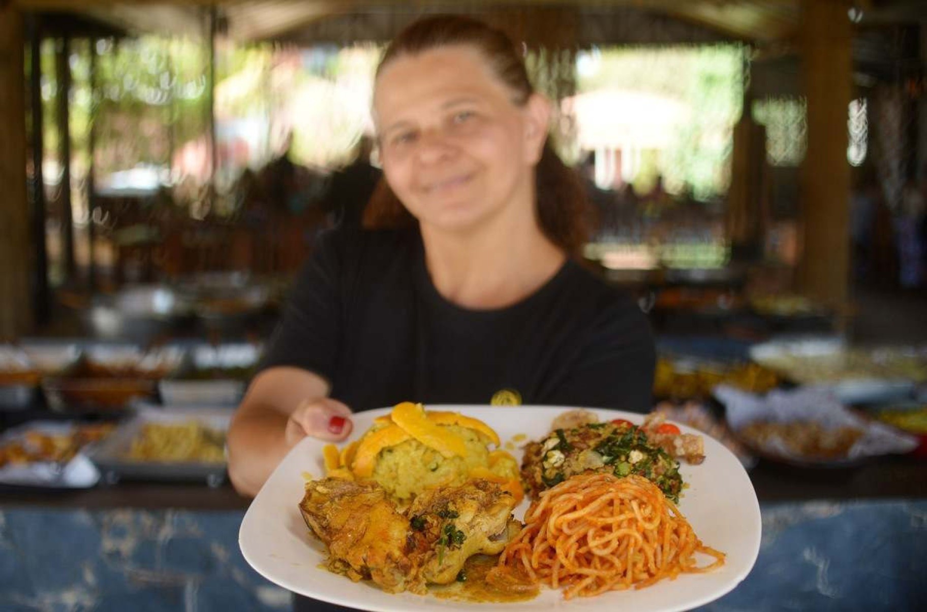
[(803, 0), (802, 60), (808, 146), (802, 165), (804, 250), (798, 278), (808, 296), (846, 306), (850, 278), (847, 113), (853, 31), (843, 0)]

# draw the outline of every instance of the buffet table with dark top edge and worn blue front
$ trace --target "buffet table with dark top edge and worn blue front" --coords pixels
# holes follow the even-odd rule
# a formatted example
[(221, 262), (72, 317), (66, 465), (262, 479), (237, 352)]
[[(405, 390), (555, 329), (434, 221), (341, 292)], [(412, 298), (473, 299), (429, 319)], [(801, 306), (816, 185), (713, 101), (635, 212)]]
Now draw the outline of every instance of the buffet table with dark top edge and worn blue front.
[[(927, 464), (760, 463), (753, 572), (704, 610), (927, 609)], [(231, 487), (121, 482), (0, 492), (0, 609), (286, 610), (289, 594), (237, 546), (248, 500)]]

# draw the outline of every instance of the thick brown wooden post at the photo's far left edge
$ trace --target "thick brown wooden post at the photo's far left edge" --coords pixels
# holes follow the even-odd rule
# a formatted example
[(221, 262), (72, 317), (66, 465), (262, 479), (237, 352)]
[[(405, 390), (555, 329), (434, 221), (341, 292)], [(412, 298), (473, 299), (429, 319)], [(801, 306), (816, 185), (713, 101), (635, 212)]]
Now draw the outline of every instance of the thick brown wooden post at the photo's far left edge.
[(32, 329), (24, 48), (22, 13), (0, 0), (0, 337), (4, 338)]

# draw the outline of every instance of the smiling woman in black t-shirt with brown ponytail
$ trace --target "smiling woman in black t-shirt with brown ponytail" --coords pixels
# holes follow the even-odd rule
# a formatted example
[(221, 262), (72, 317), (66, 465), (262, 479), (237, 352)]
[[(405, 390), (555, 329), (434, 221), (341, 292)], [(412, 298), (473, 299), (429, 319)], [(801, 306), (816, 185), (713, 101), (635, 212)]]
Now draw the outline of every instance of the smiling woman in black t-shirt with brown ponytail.
[(374, 94), (385, 181), (366, 229), (317, 248), (235, 414), (239, 492), (303, 437), (343, 439), (352, 408), (649, 409), (652, 336), (572, 258), (583, 192), (547, 144), (550, 112), (514, 44), (478, 21), (424, 19), (390, 44)]

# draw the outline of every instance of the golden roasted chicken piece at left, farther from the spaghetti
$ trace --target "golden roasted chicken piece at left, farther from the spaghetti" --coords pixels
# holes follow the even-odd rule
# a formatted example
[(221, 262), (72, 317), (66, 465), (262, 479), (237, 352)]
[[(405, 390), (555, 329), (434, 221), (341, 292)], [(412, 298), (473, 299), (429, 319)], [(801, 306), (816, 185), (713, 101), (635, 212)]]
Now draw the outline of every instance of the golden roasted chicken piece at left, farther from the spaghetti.
[(387, 593), (421, 592), (407, 555), (409, 520), (375, 482), (326, 478), (306, 483), (299, 504), (311, 531), (328, 546), (328, 568), (352, 581), (370, 579)]

